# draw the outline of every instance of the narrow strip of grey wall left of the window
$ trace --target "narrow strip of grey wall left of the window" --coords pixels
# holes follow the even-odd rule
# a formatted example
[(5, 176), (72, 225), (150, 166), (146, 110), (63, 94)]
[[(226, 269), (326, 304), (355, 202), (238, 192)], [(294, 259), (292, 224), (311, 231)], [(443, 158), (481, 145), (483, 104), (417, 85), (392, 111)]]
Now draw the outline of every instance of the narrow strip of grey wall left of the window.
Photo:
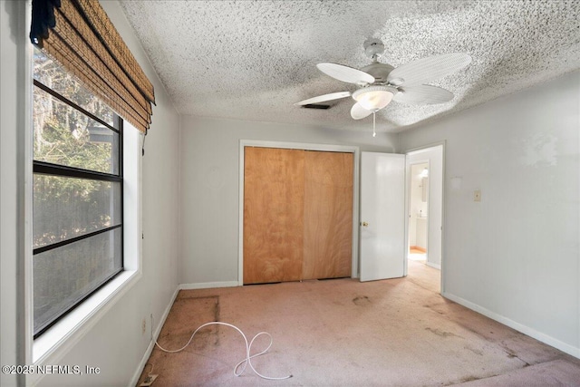
[[(24, 33), (24, 4), (0, 2), (0, 181), (2, 184), (0, 216), (0, 358), (2, 365), (23, 363), (24, 320), (20, 303), (23, 298), (21, 284), (16, 281), (21, 273), (22, 241), (24, 229), (22, 198), (24, 190), (24, 155), (18, 152), (24, 143), (24, 91), (18, 88), (23, 76), (22, 50)], [(0, 384), (15, 385), (15, 375), (0, 373)]]

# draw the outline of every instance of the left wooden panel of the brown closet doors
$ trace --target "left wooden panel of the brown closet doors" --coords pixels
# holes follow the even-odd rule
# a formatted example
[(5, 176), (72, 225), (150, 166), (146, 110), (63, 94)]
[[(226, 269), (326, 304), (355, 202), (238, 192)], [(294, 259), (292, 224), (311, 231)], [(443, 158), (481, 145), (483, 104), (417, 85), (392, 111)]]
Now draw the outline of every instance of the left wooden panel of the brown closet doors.
[(304, 150), (247, 147), (244, 169), (244, 284), (300, 280)]

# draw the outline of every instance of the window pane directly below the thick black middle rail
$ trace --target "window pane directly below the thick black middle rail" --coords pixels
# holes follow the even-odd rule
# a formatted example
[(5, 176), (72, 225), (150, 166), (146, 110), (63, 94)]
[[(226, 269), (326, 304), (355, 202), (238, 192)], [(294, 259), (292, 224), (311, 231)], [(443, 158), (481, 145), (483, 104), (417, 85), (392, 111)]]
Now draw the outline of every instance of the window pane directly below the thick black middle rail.
[(121, 224), (120, 182), (34, 174), (33, 200), (34, 248)]

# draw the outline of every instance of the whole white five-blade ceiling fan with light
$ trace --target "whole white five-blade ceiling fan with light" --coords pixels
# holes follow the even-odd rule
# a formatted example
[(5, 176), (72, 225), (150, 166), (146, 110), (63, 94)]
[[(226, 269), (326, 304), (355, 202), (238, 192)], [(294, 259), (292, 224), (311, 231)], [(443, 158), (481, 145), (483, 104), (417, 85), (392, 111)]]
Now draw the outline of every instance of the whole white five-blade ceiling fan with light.
[(380, 39), (369, 39), (363, 44), (364, 53), (372, 63), (357, 70), (336, 63), (318, 63), (318, 70), (339, 81), (359, 86), (354, 92), (331, 92), (307, 100), (296, 102), (304, 106), (319, 102), (353, 97), (351, 116), (361, 120), (371, 113), (380, 111), (391, 101), (409, 104), (435, 104), (449, 102), (453, 93), (437, 86), (423, 84), (455, 73), (471, 63), (467, 53), (442, 53), (422, 58), (397, 68), (380, 63), (379, 55), (384, 53)]

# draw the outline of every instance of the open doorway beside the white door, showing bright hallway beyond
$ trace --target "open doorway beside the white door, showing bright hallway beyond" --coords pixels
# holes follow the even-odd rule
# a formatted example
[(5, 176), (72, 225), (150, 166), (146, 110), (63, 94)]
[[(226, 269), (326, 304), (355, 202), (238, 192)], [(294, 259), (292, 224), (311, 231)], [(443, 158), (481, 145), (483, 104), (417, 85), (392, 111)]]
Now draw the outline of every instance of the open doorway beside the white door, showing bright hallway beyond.
[[(407, 246), (405, 275), (421, 273), (443, 291), (443, 145), (406, 153)], [(416, 270), (420, 265), (420, 270)], [(422, 278), (422, 276), (427, 276)]]

